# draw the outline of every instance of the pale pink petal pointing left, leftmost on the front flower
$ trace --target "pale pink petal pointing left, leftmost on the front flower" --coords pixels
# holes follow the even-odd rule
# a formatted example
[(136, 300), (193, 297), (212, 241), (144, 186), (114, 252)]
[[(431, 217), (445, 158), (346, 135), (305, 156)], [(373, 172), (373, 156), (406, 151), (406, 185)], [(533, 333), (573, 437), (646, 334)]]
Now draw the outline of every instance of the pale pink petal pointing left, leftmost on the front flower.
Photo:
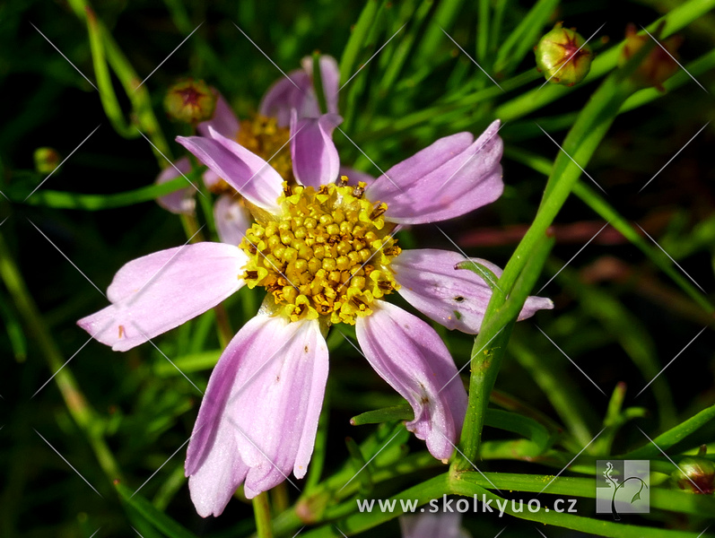
[(107, 290), (111, 305), (77, 322), (115, 351), (126, 351), (215, 307), (238, 291), (248, 257), (238, 247), (196, 243), (137, 258)]

